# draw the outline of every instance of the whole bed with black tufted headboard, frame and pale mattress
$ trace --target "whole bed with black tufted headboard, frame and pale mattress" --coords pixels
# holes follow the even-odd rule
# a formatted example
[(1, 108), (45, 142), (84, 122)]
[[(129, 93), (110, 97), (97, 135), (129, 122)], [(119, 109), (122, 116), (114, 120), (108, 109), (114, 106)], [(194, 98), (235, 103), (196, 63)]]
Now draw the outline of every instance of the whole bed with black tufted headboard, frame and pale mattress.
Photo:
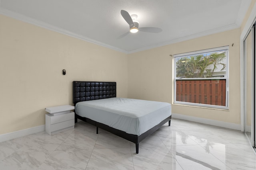
[[(116, 97), (116, 82), (73, 82), (75, 122), (86, 121), (118, 135), (136, 145), (170, 121), (171, 106), (154, 102)], [(138, 107), (138, 108), (137, 108)]]

